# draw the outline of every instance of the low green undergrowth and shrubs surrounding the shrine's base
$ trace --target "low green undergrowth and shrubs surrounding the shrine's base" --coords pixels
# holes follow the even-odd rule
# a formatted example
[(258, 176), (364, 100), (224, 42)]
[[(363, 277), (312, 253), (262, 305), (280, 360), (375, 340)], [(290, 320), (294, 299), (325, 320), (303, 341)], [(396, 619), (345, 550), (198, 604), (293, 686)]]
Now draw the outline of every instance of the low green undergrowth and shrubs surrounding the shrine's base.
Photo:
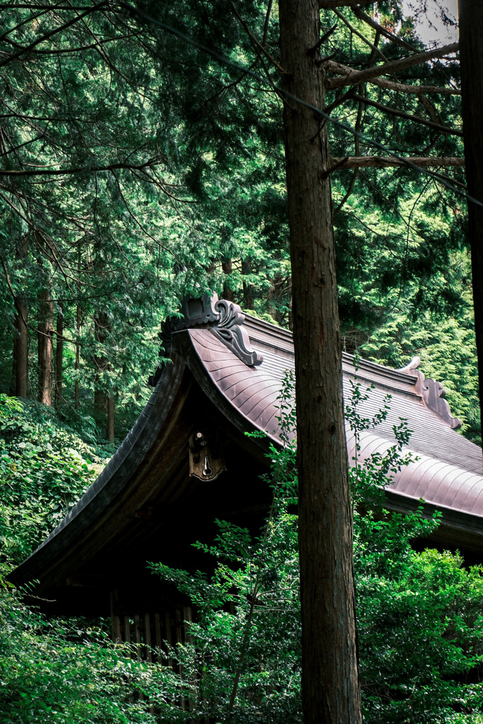
[[(377, 424), (358, 413), (369, 394), (354, 384), (348, 402), (356, 447), (366, 426)], [(294, 413), (281, 406), (287, 429)], [(32, 405), (2, 397), (0, 410), (5, 576), (74, 504), (106, 450)], [(413, 550), (438, 525), (422, 505), (409, 515), (384, 510), (381, 485), (409, 462), (402, 452), (408, 435), (402, 424), (384, 457), (361, 463), (356, 455), (350, 473), (364, 717), (480, 724), (483, 569), (466, 568), (458, 553)], [(104, 620), (44, 618), (2, 578), (0, 721), (301, 722), (295, 447), (273, 449), (271, 458), (273, 506), (260, 534), (219, 521), (213, 544), (193, 542), (214, 557), (211, 578), (150, 564), (198, 611), (185, 644), (166, 644), (158, 663), (139, 660), (127, 644), (114, 646)]]

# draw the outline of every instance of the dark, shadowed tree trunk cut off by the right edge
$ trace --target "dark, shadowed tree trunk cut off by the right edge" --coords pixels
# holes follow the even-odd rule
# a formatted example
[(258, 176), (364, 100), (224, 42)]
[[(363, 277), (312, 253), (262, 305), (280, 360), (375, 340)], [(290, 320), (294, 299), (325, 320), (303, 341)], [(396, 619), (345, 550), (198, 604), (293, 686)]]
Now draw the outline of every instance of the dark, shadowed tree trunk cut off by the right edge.
[[(483, 3), (459, 0), (461, 93), (468, 193), (483, 203)], [(483, 207), (468, 202), (474, 326), (483, 434)]]

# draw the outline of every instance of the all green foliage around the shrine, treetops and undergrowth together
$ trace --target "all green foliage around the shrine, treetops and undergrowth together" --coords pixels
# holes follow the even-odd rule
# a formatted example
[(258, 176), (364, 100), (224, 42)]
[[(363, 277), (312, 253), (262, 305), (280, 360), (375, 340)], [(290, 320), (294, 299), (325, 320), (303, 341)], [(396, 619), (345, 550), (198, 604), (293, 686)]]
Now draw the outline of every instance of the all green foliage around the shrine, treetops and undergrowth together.
[[(260, 70), (229, 4), (188, 8), (148, 0), (143, 8), (202, 45), (216, 45)], [(264, 37), (266, 29), (266, 49), (277, 59), (276, 13), (266, 19), (264, 4), (249, 0), (238, 9), (256, 37)], [(382, 2), (378, 9), (383, 24), (421, 49), (411, 22), (400, 22), (397, 3)], [(41, 12), (35, 4), (15, 7), (9, 33), (2, 36), (2, 57), (75, 20), (76, 12), (67, 5)], [(376, 39), (350, 9), (340, 14), (387, 59), (406, 54)], [(322, 55), (355, 69), (379, 62), (377, 52), (340, 17), (324, 11), (322, 22), (324, 30), (337, 24)], [(3, 390), (12, 370), (12, 290), (28, 307), (32, 397), (38, 371), (32, 322), (41, 311), (39, 294), (50, 290), (54, 316), (63, 314), (64, 334), (72, 341), (64, 349), (64, 398), (58, 404), (64, 423), (91, 443), (101, 436), (104, 415), (94, 405), (94, 390), (115, 395), (121, 434), (143, 404), (146, 369), (155, 366), (155, 332), (160, 319), (175, 310), (177, 295), (224, 288), (245, 308), (288, 323), (281, 104), (268, 83), (219, 66), (198, 48), (107, 6), (3, 65), (1, 78), (1, 132), (7, 139), (2, 169), (83, 169), (54, 177), (2, 177)], [(450, 78), (457, 85), (458, 67), (434, 62), (398, 75), (405, 83), (421, 78), (432, 85)], [(448, 126), (459, 122), (458, 96), (434, 94), (424, 101), (421, 94), (370, 83), (358, 93)], [(329, 104), (339, 99), (339, 91), (329, 91)], [(344, 103), (336, 113), (396, 153), (462, 155), (458, 136), (390, 116), (352, 94)], [(336, 126), (329, 126), (329, 134), (334, 156), (370, 153)], [(464, 182), (462, 169), (446, 172)], [(408, 169), (336, 172), (332, 188), (348, 350), (364, 345), (362, 353), (396, 367), (419, 354), (424, 373), (448, 388), (465, 433), (478, 439), (460, 201), (447, 191), (442, 195), (436, 180), (426, 182)], [(368, 424), (356, 411), (365, 394), (354, 388), (348, 412), (356, 437)], [(233, 724), (300, 721), (289, 400), (290, 395), (280, 400), (287, 446), (281, 453), (272, 450), (274, 505), (264, 531), (251, 537), (220, 521), (217, 541), (198, 544), (215, 557), (210, 579), (154, 566), (200, 611), (191, 643), (170, 652), (182, 675), (138, 662), (128, 648), (113, 649), (97, 634), (47, 623), (16, 594), (2, 590), (0, 720), (174, 724), (198, 715), (226, 720), (229, 712)], [(75, 504), (109, 450), (85, 444), (46, 408), (7, 397), (0, 400), (0, 430), (0, 537), (2, 556), (12, 565)], [(482, 571), (466, 571), (461, 559), (448, 553), (415, 552), (411, 543), (428, 536), (437, 521), (428, 521), (422, 509), (390, 515), (382, 504), (387, 474), (405, 464), (399, 441), (406, 434), (402, 425), (385, 458), (360, 463), (356, 455), (351, 473), (354, 502), (364, 510), (355, 510), (354, 528), (365, 717), (376, 723), (480, 724)], [(234, 614), (225, 610), (231, 607)], [(189, 710), (179, 707), (180, 696), (190, 701)]]

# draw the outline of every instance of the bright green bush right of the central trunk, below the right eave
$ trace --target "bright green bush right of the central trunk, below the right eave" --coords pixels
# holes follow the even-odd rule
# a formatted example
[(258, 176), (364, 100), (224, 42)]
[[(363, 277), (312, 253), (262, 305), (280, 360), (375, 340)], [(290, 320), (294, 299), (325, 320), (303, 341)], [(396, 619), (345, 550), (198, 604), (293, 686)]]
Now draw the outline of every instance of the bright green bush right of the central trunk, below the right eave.
[(482, 715), (483, 568), (468, 571), (449, 552), (413, 552), (411, 538), (432, 527), (417, 515), (393, 515), (358, 530), (360, 673), (371, 722)]

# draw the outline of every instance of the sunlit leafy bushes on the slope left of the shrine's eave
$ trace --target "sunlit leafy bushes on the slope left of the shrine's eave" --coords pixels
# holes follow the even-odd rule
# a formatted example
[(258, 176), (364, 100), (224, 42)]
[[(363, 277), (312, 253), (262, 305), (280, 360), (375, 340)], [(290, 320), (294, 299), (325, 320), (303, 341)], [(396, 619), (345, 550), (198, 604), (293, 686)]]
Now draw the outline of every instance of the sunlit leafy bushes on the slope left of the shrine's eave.
[(49, 408), (0, 395), (1, 560), (21, 563), (104, 463)]

